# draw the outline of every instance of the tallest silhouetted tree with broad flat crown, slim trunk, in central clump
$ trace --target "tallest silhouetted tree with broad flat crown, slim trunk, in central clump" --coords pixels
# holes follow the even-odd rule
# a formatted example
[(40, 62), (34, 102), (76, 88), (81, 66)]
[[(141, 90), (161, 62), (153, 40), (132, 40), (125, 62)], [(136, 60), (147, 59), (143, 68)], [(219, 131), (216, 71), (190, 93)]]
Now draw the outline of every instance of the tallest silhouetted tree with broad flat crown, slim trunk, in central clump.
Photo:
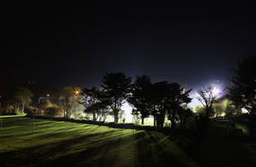
[(113, 112), (114, 123), (119, 120), (119, 111), (128, 97), (131, 88), (131, 78), (127, 78), (125, 73), (106, 73), (102, 79), (102, 88), (108, 96), (110, 107)]

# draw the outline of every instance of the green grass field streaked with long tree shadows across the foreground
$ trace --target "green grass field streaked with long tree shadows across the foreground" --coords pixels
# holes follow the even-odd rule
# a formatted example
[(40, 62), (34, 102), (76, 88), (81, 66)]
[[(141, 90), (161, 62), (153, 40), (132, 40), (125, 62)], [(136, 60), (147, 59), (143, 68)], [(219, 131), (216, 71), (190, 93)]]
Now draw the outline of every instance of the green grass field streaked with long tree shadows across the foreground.
[[(0, 166), (251, 166), (255, 150), (206, 136), (182, 136), (26, 117), (3, 118)], [(188, 150), (189, 149), (189, 150)]]

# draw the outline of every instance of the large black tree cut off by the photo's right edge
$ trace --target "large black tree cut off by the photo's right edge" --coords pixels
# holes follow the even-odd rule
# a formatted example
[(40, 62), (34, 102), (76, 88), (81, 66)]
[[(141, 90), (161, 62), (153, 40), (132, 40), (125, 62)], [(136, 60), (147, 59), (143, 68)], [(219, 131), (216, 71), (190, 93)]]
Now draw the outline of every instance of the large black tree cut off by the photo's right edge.
[(236, 75), (231, 78), (227, 98), (238, 108), (245, 108), (250, 114), (250, 134), (255, 125), (256, 113), (256, 55), (247, 56), (238, 62)]

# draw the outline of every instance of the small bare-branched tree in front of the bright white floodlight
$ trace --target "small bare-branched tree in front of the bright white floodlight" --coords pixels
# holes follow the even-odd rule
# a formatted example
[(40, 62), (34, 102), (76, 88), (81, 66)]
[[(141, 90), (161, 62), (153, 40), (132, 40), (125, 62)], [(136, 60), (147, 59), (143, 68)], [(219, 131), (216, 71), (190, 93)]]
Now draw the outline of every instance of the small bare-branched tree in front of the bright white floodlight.
[(212, 111), (212, 105), (218, 102), (218, 95), (214, 95), (212, 86), (204, 89), (197, 90), (199, 96), (196, 97), (198, 101), (206, 109), (206, 117), (209, 118), (210, 112)]

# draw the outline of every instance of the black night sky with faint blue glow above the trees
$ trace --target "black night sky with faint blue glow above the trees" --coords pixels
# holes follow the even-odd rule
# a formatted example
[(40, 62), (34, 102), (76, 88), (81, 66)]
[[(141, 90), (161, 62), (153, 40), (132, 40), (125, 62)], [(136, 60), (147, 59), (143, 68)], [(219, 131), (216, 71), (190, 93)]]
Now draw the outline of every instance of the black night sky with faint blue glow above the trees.
[(254, 9), (129, 4), (4, 6), (1, 83), (99, 85), (105, 72), (226, 82), (256, 53)]

